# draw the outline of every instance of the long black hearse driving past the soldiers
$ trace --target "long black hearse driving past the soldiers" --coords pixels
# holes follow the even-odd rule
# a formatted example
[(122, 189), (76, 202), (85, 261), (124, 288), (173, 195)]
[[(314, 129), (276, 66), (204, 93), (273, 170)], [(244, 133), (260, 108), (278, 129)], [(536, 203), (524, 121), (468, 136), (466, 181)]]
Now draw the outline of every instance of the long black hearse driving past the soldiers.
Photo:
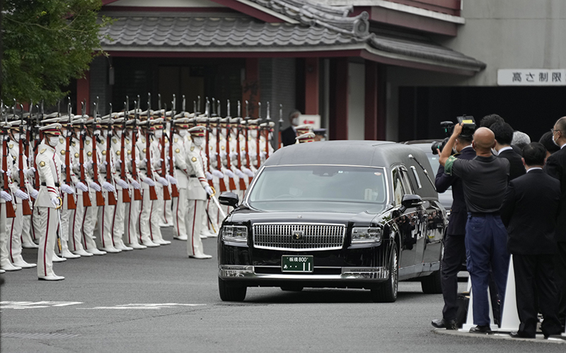
[[(277, 150), (258, 171), (218, 240), (219, 294), (247, 287), (342, 287), (395, 301), (399, 280), (440, 293), (446, 210), (419, 148), (384, 141), (303, 143)], [(434, 178), (434, 175), (432, 176)]]

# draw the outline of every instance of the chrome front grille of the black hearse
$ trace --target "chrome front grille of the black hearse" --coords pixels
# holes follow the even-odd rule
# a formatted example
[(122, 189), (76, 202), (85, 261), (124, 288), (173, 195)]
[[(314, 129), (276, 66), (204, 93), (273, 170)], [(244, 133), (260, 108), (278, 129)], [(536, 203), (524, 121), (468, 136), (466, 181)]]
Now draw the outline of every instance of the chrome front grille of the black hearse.
[(321, 251), (342, 249), (345, 225), (253, 225), (253, 244), (258, 249)]

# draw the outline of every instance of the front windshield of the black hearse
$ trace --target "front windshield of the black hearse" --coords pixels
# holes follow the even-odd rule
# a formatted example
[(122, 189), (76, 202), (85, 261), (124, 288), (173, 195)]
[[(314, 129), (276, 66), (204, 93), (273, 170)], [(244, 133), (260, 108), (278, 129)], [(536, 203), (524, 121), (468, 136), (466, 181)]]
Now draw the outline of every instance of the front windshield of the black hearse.
[(387, 203), (380, 167), (287, 165), (265, 167), (250, 191), (251, 207), (265, 211), (359, 213)]

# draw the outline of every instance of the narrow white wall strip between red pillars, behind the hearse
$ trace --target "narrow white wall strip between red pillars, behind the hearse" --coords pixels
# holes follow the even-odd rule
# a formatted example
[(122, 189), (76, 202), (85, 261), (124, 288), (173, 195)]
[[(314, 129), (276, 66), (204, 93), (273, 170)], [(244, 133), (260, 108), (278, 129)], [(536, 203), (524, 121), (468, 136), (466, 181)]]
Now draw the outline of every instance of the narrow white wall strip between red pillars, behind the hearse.
[(364, 64), (348, 64), (348, 140), (364, 139), (365, 73)]

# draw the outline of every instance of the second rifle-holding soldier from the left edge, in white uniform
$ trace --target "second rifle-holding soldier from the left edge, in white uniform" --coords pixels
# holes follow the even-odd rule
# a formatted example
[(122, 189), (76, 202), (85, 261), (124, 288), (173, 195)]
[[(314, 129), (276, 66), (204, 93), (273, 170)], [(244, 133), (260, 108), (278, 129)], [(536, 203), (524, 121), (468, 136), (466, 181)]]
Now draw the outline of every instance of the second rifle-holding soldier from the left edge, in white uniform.
[[(13, 172), (11, 174), (12, 181), (12, 195), (16, 196), (13, 201), (16, 201), (16, 217), (8, 219), (6, 234), (8, 236), (8, 251), (10, 253), (10, 261), (16, 267), (21, 268), (34, 268), (35, 263), (27, 263), (22, 257), (22, 244), (21, 233), (23, 228), (23, 210), (24, 205), (27, 215), (31, 213), (29, 201), (30, 185), (26, 176), (28, 172), (28, 158), (23, 155), (23, 141), (25, 135), (21, 136), (21, 131), (25, 131), (25, 121), (16, 120), (10, 123), (10, 138), (8, 142), (9, 158), (8, 161), (13, 161)], [(21, 150), (22, 149), (22, 150)], [(37, 196), (37, 195), (36, 195)]]

